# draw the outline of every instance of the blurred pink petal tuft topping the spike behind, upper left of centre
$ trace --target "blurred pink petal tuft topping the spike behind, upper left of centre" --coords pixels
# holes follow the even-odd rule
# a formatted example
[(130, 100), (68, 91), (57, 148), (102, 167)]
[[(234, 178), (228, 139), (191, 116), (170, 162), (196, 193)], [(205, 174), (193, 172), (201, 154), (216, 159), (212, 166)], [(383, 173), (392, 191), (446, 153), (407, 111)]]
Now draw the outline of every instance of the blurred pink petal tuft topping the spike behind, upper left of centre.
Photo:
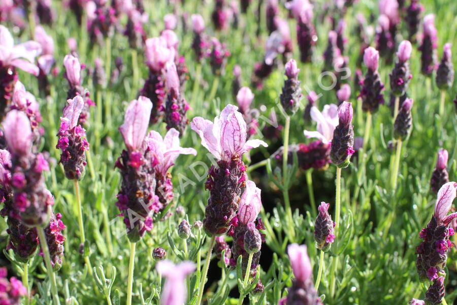
[(146, 65), (151, 71), (158, 72), (165, 64), (175, 58), (175, 50), (167, 46), (165, 37), (149, 38), (145, 42)]

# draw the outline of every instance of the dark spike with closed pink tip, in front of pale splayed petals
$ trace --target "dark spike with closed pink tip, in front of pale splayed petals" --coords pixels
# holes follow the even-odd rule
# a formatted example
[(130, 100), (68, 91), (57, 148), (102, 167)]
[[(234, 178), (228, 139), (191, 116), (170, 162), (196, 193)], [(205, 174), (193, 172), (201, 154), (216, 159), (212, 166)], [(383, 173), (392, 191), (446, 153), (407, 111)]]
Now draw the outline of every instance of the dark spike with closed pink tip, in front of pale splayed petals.
[(339, 124), (333, 132), (330, 146), (330, 159), (339, 168), (349, 165), (350, 157), (354, 153), (354, 131), (351, 125), (352, 104), (343, 102), (338, 110)]

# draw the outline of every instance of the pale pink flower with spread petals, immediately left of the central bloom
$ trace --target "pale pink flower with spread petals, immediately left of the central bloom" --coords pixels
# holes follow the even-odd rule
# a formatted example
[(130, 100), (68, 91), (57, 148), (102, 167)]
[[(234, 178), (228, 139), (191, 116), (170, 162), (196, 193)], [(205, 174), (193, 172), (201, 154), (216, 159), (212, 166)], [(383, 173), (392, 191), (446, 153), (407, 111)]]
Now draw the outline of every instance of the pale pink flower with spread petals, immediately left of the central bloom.
[(150, 131), (145, 141), (153, 158), (156, 180), (155, 195), (162, 205), (166, 207), (173, 200), (170, 167), (174, 165), (179, 155), (196, 156), (197, 150), (180, 147), (179, 132), (174, 128), (171, 128), (164, 138), (158, 132)]

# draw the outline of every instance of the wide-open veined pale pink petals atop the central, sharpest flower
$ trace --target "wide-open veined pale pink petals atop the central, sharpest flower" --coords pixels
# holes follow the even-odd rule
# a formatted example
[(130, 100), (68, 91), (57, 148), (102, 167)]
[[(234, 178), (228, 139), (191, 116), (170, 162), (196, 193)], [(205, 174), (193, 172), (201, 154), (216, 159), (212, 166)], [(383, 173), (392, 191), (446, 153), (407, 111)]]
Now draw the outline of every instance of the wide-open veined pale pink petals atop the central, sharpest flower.
[(190, 128), (197, 132), (202, 139), (202, 145), (209, 150), (217, 160), (231, 162), (252, 148), (267, 143), (262, 140), (246, 141), (246, 122), (238, 107), (227, 105), (214, 123), (203, 117), (195, 117)]

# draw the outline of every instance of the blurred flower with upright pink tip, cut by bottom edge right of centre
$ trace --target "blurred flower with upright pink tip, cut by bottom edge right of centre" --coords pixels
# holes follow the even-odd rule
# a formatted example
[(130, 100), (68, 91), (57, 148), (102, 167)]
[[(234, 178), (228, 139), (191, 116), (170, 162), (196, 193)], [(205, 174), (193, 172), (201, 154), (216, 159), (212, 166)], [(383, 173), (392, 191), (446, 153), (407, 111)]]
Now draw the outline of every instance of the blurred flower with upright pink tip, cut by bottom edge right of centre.
[(312, 281), (312, 268), (306, 245), (292, 243), (287, 247), (287, 254), (295, 279), (287, 294), (287, 305), (310, 304), (322, 305)]

